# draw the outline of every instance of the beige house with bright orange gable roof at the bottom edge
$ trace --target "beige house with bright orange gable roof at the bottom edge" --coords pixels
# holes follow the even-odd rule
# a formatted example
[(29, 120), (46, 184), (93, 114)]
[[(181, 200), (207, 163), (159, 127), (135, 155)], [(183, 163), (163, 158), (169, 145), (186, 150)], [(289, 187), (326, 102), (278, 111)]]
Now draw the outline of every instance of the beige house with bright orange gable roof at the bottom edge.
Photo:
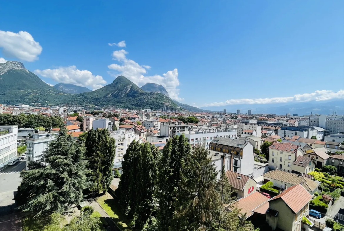
[(272, 230), (300, 231), (302, 217), (309, 214), (312, 195), (300, 184), (291, 186), (269, 200), (266, 222)]

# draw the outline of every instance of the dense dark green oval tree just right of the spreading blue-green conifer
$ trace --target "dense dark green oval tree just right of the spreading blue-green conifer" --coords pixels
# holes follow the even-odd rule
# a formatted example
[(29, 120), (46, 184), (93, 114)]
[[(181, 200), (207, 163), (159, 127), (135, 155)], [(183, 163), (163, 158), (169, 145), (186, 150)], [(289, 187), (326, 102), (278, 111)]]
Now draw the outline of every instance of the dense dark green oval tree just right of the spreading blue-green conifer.
[(85, 140), (88, 175), (92, 185), (90, 191), (106, 192), (111, 184), (112, 167), (116, 156), (116, 141), (107, 129), (89, 130)]

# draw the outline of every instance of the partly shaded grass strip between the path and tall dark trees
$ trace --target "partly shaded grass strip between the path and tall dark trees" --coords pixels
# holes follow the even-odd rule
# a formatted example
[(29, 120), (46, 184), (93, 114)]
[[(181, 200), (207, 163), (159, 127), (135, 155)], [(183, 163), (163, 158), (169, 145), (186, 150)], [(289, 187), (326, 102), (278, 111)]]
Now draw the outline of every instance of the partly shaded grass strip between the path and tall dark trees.
[(112, 218), (112, 220), (115, 221), (115, 223), (121, 230), (130, 230), (127, 225), (128, 221), (126, 219), (126, 216), (122, 214), (119, 210), (119, 205), (117, 203), (116, 198), (113, 198), (107, 192), (104, 196), (99, 197), (97, 199), (97, 202), (107, 212), (107, 214)]

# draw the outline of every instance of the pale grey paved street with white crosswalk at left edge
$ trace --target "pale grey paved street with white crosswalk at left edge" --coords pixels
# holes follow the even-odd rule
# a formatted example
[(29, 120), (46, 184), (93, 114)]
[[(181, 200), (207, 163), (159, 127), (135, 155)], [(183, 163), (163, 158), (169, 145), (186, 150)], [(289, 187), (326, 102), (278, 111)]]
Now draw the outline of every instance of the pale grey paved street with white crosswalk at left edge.
[(14, 192), (20, 185), (20, 172), (25, 169), (26, 160), (21, 160), (13, 166), (0, 172), (0, 206), (13, 204)]

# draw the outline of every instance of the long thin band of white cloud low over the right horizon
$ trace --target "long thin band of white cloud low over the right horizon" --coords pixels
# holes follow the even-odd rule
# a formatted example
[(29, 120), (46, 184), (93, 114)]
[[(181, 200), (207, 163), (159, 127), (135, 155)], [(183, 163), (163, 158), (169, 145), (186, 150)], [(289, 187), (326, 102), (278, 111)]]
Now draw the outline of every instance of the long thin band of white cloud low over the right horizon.
[(313, 93), (297, 94), (289, 97), (274, 97), (274, 98), (256, 98), (256, 99), (229, 99), (225, 102), (214, 102), (205, 104), (203, 106), (224, 106), (234, 104), (273, 104), (273, 103), (290, 103), (290, 102), (309, 102), (309, 101), (324, 101), (329, 99), (344, 99), (344, 90), (338, 92), (333, 91), (315, 91)]

